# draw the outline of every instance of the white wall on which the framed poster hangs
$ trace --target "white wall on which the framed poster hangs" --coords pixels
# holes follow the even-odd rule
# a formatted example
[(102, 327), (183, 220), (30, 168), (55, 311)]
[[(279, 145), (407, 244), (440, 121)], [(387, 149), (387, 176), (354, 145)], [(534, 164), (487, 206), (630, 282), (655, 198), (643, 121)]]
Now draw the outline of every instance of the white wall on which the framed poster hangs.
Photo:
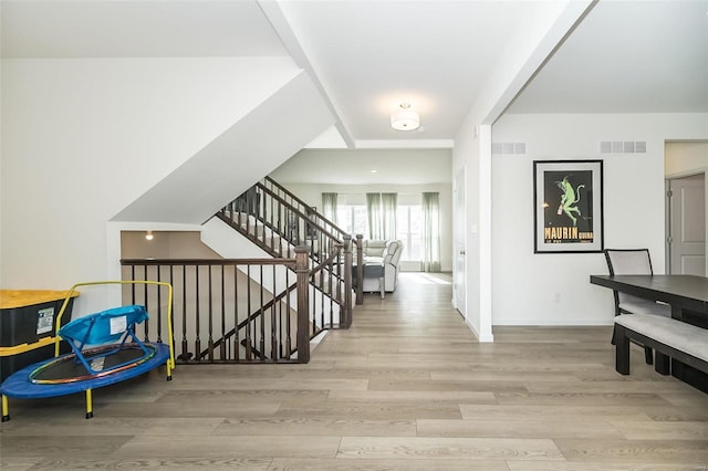
[[(664, 144), (705, 139), (706, 114), (507, 115), (494, 142), (525, 143), (525, 155), (492, 157), (494, 325), (607, 325), (610, 290), (601, 253), (533, 253), (533, 160), (603, 159), (606, 248), (647, 247), (664, 273)], [(602, 140), (644, 140), (646, 154), (600, 154)], [(514, 295), (509, 295), (512, 292)]]

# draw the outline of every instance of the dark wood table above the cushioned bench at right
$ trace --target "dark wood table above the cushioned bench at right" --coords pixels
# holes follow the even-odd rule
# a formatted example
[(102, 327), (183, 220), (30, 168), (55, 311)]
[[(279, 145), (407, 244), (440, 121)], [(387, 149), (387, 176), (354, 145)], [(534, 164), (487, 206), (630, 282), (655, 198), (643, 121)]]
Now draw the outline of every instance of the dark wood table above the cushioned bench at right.
[[(708, 278), (696, 275), (591, 275), (590, 282), (671, 306), (671, 317), (706, 328)], [(671, 375), (708, 393), (708, 375), (671, 359)]]

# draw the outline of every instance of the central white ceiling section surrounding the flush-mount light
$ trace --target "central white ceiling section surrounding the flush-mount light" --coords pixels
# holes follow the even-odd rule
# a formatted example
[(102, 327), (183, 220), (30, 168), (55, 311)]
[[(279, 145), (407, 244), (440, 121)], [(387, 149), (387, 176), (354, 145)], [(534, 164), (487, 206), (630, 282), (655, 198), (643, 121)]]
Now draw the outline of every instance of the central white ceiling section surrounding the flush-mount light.
[[(301, 46), (355, 140), (451, 139), (508, 38), (519, 1), (284, 2)], [(397, 132), (408, 102), (424, 129)]]

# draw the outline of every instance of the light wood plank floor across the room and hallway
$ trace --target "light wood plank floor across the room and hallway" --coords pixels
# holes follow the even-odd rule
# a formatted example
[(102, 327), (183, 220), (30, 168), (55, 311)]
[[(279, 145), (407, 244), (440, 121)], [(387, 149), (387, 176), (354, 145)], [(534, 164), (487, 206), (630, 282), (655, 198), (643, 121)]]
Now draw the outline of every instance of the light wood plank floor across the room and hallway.
[[(706, 470), (708, 395), (608, 327), (498, 327), (479, 344), (449, 276), (402, 275), (309, 365), (181, 366), (83, 396), (10, 400), (8, 470)], [(611, 306), (608, 306), (611, 308)]]

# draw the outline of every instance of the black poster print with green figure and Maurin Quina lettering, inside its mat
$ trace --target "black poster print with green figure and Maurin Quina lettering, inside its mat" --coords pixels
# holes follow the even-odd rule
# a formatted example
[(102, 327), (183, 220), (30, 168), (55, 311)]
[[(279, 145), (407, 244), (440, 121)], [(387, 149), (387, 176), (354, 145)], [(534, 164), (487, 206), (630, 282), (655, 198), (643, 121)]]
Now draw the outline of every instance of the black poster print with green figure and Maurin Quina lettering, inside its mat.
[(544, 243), (593, 243), (593, 171), (544, 171)]

